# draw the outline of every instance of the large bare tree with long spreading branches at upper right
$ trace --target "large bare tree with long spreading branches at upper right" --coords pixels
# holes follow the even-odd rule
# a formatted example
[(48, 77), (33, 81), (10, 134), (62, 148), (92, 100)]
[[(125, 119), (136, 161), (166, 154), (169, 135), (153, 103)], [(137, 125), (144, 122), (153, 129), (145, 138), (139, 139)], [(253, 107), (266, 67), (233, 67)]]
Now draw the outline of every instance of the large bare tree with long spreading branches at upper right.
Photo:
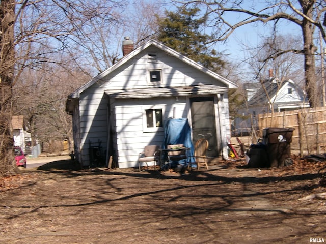
[[(319, 106), (315, 74), (314, 35), (316, 30), (321, 32), (326, 41), (326, 2), (323, 0), (279, 1), (269, 0), (264, 3), (242, 0), (201, 0), (176, 1), (184, 5), (196, 4), (206, 7), (205, 14), (211, 19), (211, 27), (216, 33), (214, 41), (225, 41), (239, 27), (248, 24), (290, 22), (302, 31), (303, 48), (276, 50), (269, 58), (275, 58), (286, 52), (304, 55), (305, 88), (312, 107)], [(236, 15), (236, 17), (235, 17)], [(280, 24), (280, 25), (281, 25)], [(252, 25), (255, 26), (255, 25)], [(283, 26), (284, 27), (284, 26)]]

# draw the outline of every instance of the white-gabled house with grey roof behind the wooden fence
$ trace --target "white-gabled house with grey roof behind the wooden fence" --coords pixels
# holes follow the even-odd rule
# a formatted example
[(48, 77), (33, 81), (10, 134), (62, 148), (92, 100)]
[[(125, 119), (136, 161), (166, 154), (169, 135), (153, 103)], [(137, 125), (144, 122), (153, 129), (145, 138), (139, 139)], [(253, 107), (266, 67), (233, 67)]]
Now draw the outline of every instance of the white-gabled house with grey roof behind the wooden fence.
[(298, 85), (292, 80), (280, 81), (273, 77), (273, 70), (269, 70), (270, 78), (263, 83), (245, 84), (247, 104), (239, 109), (244, 119), (235, 119), (235, 134), (247, 134), (258, 128), (258, 114), (296, 110), (309, 107), (308, 98)]

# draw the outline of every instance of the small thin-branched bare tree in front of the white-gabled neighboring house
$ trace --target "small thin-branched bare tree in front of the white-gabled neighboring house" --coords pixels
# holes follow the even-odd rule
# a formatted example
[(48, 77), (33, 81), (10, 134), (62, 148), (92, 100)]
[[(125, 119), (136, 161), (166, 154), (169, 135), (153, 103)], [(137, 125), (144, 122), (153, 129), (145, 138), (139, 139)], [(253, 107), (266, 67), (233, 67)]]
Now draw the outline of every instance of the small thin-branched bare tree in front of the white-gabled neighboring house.
[[(266, 101), (268, 101), (268, 105), (264, 108), (264, 111), (265, 113), (271, 113), (271, 121), (273, 121), (274, 113), (276, 112), (274, 109), (275, 100), (272, 99), (271, 95), (274, 96), (275, 93), (278, 93), (281, 87), (283, 87), (284, 82), (287, 82), (289, 79), (295, 82), (296, 85), (304, 88), (304, 72), (302, 65), (303, 56), (297, 58), (295, 53), (286, 52), (283, 55), (275, 56), (273, 59), (269, 57), (273, 55), (276, 50), (297, 49), (300, 45), (300, 40), (295, 36), (273, 35), (263, 39), (258, 46), (249, 51), (249, 55), (252, 58), (248, 59), (248, 64), (252, 68), (253, 74), (255, 74), (254, 79), (258, 80), (261, 85), (263, 96), (265, 96)], [(273, 82), (274, 85), (271, 85), (271, 82)], [(276, 99), (276, 97), (274, 98)], [(306, 99), (305, 97), (303, 104), (307, 103)], [(249, 103), (250, 106), (253, 107), (256, 101), (254, 101), (254, 103), (249, 101)], [(248, 104), (246, 104), (246, 106), (248, 106)], [(257, 108), (259, 107), (261, 107), (261, 104), (257, 104)]]

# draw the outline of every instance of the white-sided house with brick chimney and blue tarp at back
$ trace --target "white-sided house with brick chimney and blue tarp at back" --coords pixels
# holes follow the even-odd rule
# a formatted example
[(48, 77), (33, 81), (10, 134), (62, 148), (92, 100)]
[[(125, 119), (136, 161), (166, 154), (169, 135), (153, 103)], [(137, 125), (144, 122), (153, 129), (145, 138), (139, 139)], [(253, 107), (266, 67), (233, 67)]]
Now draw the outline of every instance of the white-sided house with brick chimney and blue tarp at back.
[(150, 40), (68, 96), (74, 154), (83, 166), (112, 155), (120, 168), (137, 167), (146, 145), (162, 145), (170, 118), (187, 118), (193, 141), (207, 138), (209, 156), (228, 157), (228, 89), (237, 86), (173, 49)]

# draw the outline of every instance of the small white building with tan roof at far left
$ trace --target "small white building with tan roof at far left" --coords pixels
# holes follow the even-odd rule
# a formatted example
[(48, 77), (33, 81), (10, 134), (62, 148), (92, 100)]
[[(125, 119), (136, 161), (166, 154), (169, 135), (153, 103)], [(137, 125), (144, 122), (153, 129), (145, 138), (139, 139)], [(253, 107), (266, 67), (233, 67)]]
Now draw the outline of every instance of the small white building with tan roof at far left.
[(12, 116), (11, 126), (13, 130), (14, 146), (19, 146), (24, 152), (28, 151), (31, 142), (31, 134), (24, 130), (24, 116)]

